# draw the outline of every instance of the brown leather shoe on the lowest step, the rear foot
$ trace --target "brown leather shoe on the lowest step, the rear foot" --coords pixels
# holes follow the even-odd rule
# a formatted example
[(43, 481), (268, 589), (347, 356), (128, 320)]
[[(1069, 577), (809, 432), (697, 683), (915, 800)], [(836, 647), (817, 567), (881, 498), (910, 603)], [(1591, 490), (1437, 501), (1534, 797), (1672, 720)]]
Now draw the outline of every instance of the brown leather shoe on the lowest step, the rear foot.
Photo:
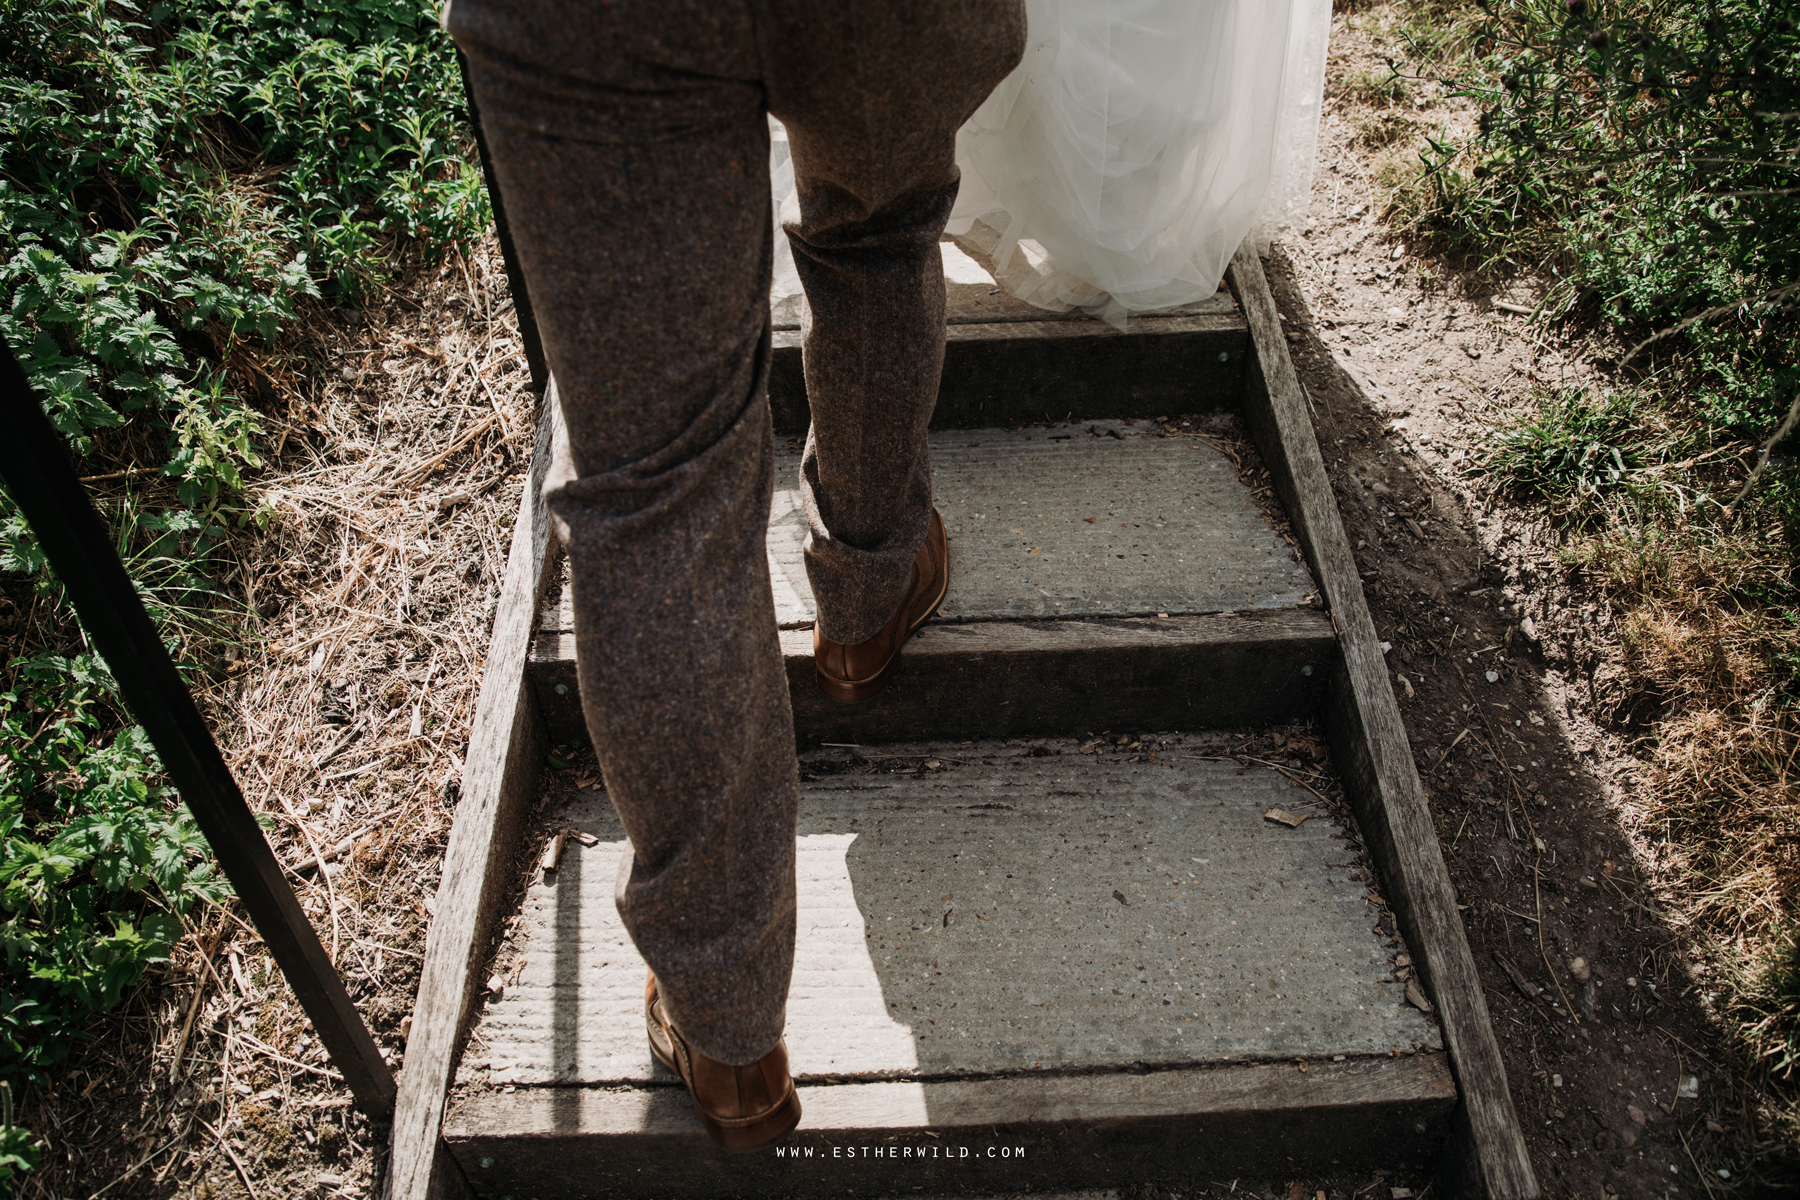
[(644, 982), (650, 1052), (688, 1085), (700, 1124), (724, 1150), (751, 1150), (799, 1124), (799, 1096), (787, 1069), (787, 1040), (749, 1067), (733, 1067), (688, 1045), (662, 1007), (655, 972)]

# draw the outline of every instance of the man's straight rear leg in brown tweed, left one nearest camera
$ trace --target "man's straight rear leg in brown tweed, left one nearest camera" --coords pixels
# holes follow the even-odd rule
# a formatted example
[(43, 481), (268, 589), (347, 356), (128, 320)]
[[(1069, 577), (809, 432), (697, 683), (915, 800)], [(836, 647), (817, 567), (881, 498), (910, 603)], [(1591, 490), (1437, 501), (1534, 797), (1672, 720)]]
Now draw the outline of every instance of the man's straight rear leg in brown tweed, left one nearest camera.
[(619, 914), (688, 1042), (776, 1045), (794, 961), (794, 721), (772, 489), (769, 131), (754, 22), (700, 0), (455, 0), (569, 423), (589, 734), (632, 838)]

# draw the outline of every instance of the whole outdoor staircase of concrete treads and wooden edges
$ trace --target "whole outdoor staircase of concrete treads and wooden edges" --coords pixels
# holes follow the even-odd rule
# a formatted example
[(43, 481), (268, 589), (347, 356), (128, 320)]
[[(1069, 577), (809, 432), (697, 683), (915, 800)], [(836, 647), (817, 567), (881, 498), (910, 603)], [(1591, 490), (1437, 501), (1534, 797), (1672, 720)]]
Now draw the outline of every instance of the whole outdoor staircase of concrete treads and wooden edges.
[[(1253, 344), (1256, 315), (1224, 291), (1121, 333), (956, 282), (950, 252), (947, 266), (931, 446), (950, 592), (866, 705), (812, 680), (805, 398), (778, 333), (770, 403), (796, 441), (769, 561), (801, 750), (799, 1130), (743, 1155), (711, 1146), (644, 1042), (605, 793), (562, 788), (527, 822), (495, 784), (455, 1011), (470, 1033), (430, 1060), (441, 1141), (414, 1195), (1071, 1189), (1433, 1159), (1469, 1184), (1445, 1195), (1535, 1195), (1503, 1076), (1494, 1099), (1498, 1056), (1483, 1060), (1480, 990), (1445, 991), (1467, 946), (1442, 916), (1436, 842), (1426, 824), (1413, 846), (1417, 819), (1388, 799), (1417, 777), (1408, 759), (1386, 779), (1388, 716), (1364, 698), (1366, 648), (1345, 640), (1354, 565), (1321, 587), (1309, 561), (1337, 558), (1318, 549), (1303, 470), (1271, 461), (1271, 495), (1231, 452), (1278, 338)], [(1260, 266), (1255, 284), (1269, 326)], [(1251, 432), (1267, 421), (1244, 414)], [(1341, 542), (1334, 509), (1330, 524)], [(540, 574), (513, 716), (527, 747), (581, 739), (567, 596)], [(1233, 754), (1321, 729), (1350, 804), (1327, 799), (1330, 759)], [(556, 829), (578, 837), (554, 871), (522, 892), (500, 882)], [(491, 849), (508, 838), (524, 849)], [(475, 984), (490, 973), (499, 993)], [(407, 1076), (416, 1061), (409, 1047)], [(401, 1146), (396, 1132), (396, 1175)]]

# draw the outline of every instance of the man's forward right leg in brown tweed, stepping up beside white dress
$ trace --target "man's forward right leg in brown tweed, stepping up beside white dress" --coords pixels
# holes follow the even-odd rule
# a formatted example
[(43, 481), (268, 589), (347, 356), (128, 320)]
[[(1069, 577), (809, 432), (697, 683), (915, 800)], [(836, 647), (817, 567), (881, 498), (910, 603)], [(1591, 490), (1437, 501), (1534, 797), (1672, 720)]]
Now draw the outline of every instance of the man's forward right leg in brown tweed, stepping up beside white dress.
[(956, 130), (1024, 52), (1021, 0), (767, 0), (769, 110), (788, 128), (812, 430), (801, 495), (819, 631), (875, 637), (931, 518), (943, 367), (938, 237)]

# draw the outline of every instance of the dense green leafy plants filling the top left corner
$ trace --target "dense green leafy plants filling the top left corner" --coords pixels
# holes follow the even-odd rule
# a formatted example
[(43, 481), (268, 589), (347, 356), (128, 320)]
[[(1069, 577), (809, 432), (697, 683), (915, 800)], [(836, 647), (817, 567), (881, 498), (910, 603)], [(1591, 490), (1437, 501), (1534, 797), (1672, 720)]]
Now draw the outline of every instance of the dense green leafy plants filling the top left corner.
[(488, 221), (419, 0), (0, 4), (0, 335), (77, 453), (166, 428), (187, 504), (256, 466), (248, 362), (396, 237)]

